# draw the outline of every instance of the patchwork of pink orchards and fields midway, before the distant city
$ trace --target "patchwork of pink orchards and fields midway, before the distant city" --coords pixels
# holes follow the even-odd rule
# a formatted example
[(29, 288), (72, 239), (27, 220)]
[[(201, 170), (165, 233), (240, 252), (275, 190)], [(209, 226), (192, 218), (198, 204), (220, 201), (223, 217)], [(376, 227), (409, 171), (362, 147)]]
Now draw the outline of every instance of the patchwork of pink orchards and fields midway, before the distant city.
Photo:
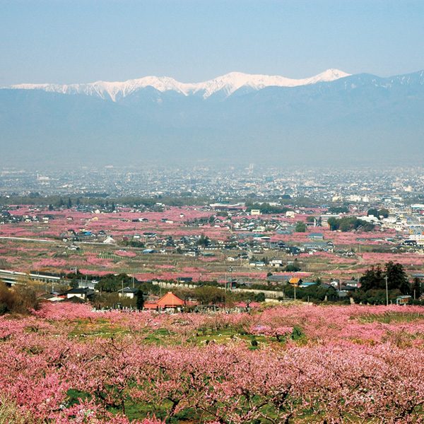
[[(316, 211), (319, 213), (319, 211)], [(266, 274), (281, 273), (275, 266), (251, 266), (252, 259), (237, 259), (245, 247), (256, 242), (258, 233), (236, 231), (235, 223), (245, 219), (240, 216), (225, 222), (218, 217), (218, 223), (199, 224), (201, 219), (208, 220), (213, 211), (203, 211), (194, 207), (170, 207), (164, 211), (143, 213), (131, 212), (129, 209), (119, 213), (88, 213), (76, 210), (34, 211), (21, 207), (12, 212), (16, 216), (49, 216), (49, 220), (37, 222), (17, 222), (0, 225), (0, 268), (16, 271), (51, 271), (69, 272), (77, 268), (81, 273), (104, 275), (105, 273), (128, 273), (141, 281), (152, 278), (176, 280), (178, 277), (192, 278), (193, 281), (225, 281), (228, 269), (232, 266), (232, 277), (253, 283), (263, 283)], [(387, 261), (404, 265), (409, 273), (420, 271), (424, 256), (414, 252), (399, 252), (391, 240), (393, 234), (381, 232), (331, 232), (328, 228), (312, 228), (306, 233), (281, 235), (272, 228), (278, 223), (290, 225), (298, 220), (305, 220), (307, 215), (298, 214), (295, 218), (285, 216), (262, 216), (259, 224), (264, 230), (259, 235), (269, 237), (270, 242), (281, 240), (286, 245), (301, 245), (309, 241), (307, 234), (319, 230), (324, 234), (324, 241), (334, 243), (334, 252), (314, 251), (291, 256), (281, 250), (266, 247), (263, 242), (254, 253), (253, 259), (281, 259), (283, 266), (295, 259), (303, 278), (311, 280), (317, 277), (324, 281), (331, 278), (357, 278), (369, 266)], [(139, 222), (145, 218), (145, 222)], [(167, 221), (167, 222), (165, 222)], [(267, 224), (268, 223), (268, 224)], [(269, 225), (268, 227), (266, 225)], [(103, 243), (106, 237), (94, 237), (101, 232), (110, 235), (116, 244)], [(93, 237), (81, 237), (75, 242), (78, 249), (69, 249), (71, 235), (90, 233)], [(153, 233), (149, 237), (145, 233)], [(208, 237), (218, 248), (204, 249), (206, 255), (196, 257), (179, 253), (177, 247), (184, 245), (184, 237)], [(79, 240), (79, 239), (78, 239)], [(143, 247), (129, 242), (138, 240)], [(174, 247), (166, 247), (167, 240), (172, 240)], [(232, 245), (229, 244), (233, 242)], [(225, 243), (229, 244), (224, 247)], [(145, 247), (154, 253), (143, 253)], [(393, 247), (393, 249), (391, 249)], [(372, 252), (379, 248), (379, 252)], [(353, 257), (340, 253), (352, 250)], [(253, 250), (252, 250), (253, 251)], [(235, 258), (235, 261), (230, 259)]]

